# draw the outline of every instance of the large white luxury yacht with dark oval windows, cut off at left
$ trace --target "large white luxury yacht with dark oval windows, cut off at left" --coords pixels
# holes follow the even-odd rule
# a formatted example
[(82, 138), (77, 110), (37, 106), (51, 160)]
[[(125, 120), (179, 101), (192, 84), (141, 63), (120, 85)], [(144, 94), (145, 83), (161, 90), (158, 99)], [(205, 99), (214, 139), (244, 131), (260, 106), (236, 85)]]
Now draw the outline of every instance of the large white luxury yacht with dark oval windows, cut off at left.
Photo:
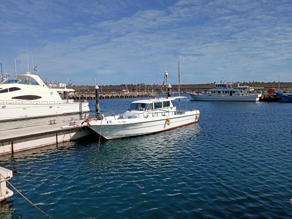
[(0, 122), (90, 111), (87, 101), (68, 99), (69, 92), (66, 84), (47, 86), (36, 74), (17, 75), (0, 84)]

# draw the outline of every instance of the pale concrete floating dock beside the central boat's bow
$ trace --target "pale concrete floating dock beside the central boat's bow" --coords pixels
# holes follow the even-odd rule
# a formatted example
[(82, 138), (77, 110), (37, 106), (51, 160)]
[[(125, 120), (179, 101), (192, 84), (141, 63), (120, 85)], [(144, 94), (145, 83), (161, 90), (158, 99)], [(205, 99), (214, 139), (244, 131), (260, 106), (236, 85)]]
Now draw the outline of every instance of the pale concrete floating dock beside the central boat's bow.
[(0, 155), (75, 140), (90, 134), (84, 120), (0, 131)]

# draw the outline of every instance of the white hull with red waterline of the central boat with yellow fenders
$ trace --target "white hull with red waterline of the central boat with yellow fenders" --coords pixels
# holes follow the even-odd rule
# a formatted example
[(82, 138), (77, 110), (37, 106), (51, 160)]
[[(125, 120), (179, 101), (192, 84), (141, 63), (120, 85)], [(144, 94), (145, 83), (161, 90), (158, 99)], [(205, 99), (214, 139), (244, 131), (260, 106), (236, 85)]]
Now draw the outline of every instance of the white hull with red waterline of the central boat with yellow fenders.
[[(134, 119), (115, 119), (113, 116), (90, 122), (89, 128), (107, 140), (138, 135), (153, 134), (198, 122), (199, 110), (186, 111), (172, 116), (159, 116)], [(170, 123), (168, 125), (169, 119)]]

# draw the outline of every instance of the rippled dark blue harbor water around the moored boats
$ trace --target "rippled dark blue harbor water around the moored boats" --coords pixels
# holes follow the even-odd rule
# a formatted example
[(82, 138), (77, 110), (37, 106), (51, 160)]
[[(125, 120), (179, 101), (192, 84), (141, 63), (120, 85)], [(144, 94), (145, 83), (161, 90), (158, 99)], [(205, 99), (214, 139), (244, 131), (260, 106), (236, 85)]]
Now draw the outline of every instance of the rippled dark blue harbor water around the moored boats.
[[(100, 107), (123, 112), (133, 100)], [(100, 144), (86, 137), (0, 164), (17, 168), (11, 183), (56, 219), (292, 218), (292, 104), (188, 97), (187, 107), (200, 110), (198, 124)], [(1, 219), (46, 218), (14, 192), (0, 202)]]

